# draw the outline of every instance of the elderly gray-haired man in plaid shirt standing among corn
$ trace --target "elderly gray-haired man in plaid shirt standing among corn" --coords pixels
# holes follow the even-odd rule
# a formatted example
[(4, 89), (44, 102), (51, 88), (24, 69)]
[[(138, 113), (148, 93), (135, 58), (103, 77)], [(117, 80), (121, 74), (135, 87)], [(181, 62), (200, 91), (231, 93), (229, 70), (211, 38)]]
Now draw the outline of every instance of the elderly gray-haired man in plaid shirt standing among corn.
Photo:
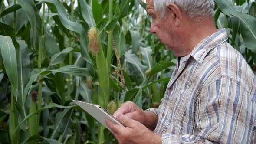
[(213, 8), (213, 0), (147, 0), (151, 33), (178, 62), (159, 108), (126, 102), (114, 114), (126, 128), (106, 120), (120, 144), (256, 143), (256, 77), (215, 28)]

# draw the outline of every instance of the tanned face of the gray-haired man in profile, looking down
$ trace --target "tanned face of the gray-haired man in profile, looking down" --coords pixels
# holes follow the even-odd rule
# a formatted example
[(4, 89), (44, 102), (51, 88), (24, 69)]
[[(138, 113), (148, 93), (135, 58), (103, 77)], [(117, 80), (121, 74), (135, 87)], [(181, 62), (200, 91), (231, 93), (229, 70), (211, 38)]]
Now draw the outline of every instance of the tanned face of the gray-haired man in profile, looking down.
[(162, 20), (161, 15), (154, 10), (153, 0), (147, 0), (147, 12), (152, 17), (150, 32), (157, 35), (158, 40), (165, 44), (166, 49), (174, 50), (174, 45), (176, 45), (174, 36), (177, 35), (174, 31), (174, 22), (171, 16), (167, 16), (166, 19)]

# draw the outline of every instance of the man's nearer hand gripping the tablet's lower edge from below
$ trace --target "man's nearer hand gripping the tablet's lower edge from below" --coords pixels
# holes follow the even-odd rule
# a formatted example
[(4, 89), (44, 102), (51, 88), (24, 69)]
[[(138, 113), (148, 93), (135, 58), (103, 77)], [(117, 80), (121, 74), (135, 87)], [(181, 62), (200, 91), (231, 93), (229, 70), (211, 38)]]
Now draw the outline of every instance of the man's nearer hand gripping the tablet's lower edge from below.
[(106, 124), (119, 144), (161, 144), (161, 135), (154, 134), (138, 121), (128, 118), (122, 113), (116, 113), (117, 119), (126, 127), (106, 119)]

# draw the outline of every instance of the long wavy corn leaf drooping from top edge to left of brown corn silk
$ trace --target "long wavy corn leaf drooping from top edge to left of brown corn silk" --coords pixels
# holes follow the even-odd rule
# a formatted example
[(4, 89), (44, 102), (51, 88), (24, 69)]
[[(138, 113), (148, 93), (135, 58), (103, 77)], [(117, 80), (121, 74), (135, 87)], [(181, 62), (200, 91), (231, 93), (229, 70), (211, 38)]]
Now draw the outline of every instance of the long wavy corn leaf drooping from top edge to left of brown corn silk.
[(46, 2), (47, 6), (52, 8), (54, 11), (56, 11), (59, 15), (59, 19), (61, 20), (61, 23), (63, 26), (66, 27), (66, 29), (69, 29), (71, 31), (74, 31), (75, 33), (78, 33), (80, 44), (81, 44), (81, 54), (82, 58), (85, 59), (86, 62), (92, 63), (92, 59), (89, 56), (88, 50), (87, 50), (87, 42), (86, 42), (86, 33), (82, 26), (80, 26), (76, 22), (72, 22), (69, 20), (68, 16), (66, 15), (65, 8), (59, 3), (58, 0), (36, 0), (40, 2)]

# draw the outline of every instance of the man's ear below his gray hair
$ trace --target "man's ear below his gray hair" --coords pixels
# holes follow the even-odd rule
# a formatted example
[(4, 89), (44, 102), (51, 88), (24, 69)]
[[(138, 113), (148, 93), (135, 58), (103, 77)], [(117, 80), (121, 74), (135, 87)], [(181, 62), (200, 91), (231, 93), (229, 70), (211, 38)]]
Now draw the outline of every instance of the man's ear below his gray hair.
[(181, 22), (182, 22), (182, 13), (181, 13), (181, 9), (179, 7), (177, 7), (176, 4), (170, 3), (167, 5), (167, 16), (171, 16), (171, 19), (174, 21), (174, 25), (179, 27), (181, 26)]

